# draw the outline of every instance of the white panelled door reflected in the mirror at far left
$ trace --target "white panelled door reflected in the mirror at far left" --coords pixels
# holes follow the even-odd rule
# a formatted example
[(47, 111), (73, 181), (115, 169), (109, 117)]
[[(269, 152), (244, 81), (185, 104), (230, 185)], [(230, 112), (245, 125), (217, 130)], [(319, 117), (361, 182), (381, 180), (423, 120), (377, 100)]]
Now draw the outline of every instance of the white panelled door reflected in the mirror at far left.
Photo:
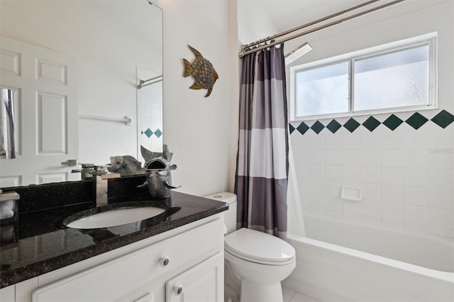
[(0, 86), (13, 90), (16, 159), (0, 160), (0, 187), (79, 179), (77, 58), (0, 37)]

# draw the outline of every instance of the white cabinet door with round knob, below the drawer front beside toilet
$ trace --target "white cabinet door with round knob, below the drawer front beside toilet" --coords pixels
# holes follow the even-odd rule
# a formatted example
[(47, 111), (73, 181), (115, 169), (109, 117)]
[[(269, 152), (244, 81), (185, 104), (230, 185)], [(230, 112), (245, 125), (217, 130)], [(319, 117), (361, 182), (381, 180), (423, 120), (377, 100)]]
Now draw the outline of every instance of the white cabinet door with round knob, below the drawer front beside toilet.
[(206, 259), (165, 284), (167, 302), (223, 301), (223, 252)]

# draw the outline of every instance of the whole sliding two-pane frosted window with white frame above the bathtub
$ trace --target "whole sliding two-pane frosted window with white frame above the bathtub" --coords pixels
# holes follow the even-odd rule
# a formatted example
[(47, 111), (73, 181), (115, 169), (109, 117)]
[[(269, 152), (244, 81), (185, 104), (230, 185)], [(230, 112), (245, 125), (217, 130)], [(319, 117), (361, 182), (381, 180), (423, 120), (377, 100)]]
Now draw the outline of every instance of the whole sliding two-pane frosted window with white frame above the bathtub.
[(436, 35), (292, 67), (291, 120), (436, 107)]

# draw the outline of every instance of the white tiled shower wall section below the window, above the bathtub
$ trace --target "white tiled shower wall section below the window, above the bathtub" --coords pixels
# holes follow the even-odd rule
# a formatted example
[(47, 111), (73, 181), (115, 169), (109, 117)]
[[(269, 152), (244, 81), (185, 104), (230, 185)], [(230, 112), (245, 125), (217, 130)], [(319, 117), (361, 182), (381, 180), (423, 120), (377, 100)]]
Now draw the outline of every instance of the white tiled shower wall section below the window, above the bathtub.
[[(344, 125), (348, 118), (336, 121)], [(304, 135), (294, 130), (291, 141), (304, 212), (454, 237), (454, 123), (441, 128), (427, 121), (417, 130), (380, 124), (372, 131), (360, 125), (352, 133), (343, 126), (336, 133), (309, 128)], [(343, 200), (341, 186), (360, 187), (362, 201)]]

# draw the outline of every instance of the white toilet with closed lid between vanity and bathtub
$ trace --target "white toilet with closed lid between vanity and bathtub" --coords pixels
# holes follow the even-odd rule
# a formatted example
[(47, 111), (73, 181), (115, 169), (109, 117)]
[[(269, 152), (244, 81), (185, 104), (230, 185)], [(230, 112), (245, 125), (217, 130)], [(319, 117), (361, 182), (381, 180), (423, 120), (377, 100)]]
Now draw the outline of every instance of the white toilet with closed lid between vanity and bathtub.
[(224, 237), (224, 258), (240, 280), (240, 302), (282, 302), (281, 281), (296, 266), (292, 245), (257, 230), (236, 230), (235, 194), (222, 192), (206, 198), (228, 203), (224, 212), (228, 233)]

